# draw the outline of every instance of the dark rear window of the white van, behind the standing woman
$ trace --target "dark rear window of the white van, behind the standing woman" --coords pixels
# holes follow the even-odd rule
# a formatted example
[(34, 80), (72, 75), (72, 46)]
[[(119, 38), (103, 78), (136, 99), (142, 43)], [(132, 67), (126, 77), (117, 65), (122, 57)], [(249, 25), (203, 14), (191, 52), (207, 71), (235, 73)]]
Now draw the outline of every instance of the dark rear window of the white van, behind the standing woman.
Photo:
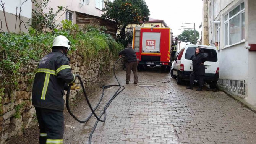
[[(185, 59), (191, 60), (192, 56), (195, 54), (196, 47), (188, 47), (185, 53)], [(204, 48), (204, 53), (207, 55), (206, 61), (216, 62), (218, 61), (216, 50)]]

